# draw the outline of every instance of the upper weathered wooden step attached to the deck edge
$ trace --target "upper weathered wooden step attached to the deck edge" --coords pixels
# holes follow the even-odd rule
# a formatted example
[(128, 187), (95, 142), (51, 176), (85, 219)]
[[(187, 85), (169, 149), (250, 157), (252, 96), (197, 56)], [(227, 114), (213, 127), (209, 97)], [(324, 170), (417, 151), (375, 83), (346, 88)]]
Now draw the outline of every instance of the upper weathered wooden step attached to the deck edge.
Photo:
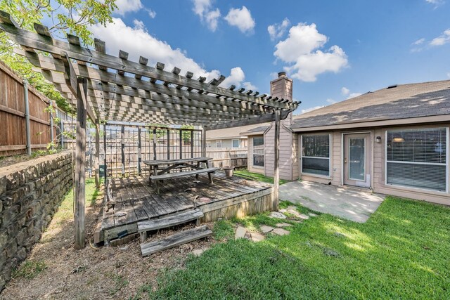
[(160, 219), (140, 221), (138, 222), (138, 233), (172, 227), (200, 218), (203, 218), (203, 212), (200, 209), (189, 209), (188, 211), (183, 211), (181, 214), (174, 214)]

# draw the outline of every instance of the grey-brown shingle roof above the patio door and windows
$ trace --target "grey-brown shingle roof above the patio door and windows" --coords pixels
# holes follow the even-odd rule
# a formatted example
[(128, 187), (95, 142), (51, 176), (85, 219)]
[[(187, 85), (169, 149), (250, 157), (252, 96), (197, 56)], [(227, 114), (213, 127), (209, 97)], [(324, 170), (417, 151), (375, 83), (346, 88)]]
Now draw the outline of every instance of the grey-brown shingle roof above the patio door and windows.
[(291, 128), (450, 115), (450, 80), (401, 84), (294, 116)]

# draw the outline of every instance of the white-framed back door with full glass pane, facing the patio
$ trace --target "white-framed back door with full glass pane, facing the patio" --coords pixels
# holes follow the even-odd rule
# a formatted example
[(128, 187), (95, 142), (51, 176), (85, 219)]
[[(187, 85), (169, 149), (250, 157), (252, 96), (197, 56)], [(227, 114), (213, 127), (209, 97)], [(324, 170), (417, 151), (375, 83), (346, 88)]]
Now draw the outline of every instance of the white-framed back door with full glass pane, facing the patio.
[(371, 133), (344, 135), (344, 184), (371, 187)]

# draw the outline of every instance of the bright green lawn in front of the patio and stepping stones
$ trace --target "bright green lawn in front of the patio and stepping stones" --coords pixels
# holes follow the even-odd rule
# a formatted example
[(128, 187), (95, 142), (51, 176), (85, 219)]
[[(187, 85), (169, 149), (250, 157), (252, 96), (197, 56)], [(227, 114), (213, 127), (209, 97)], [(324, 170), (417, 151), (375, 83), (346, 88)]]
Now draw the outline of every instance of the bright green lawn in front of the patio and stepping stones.
[[(230, 234), (235, 221), (248, 227), (271, 224), (264, 214), (221, 221), (215, 234)], [(148, 296), (450, 299), (448, 207), (387, 197), (367, 223), (321, 214), (289, 230), (290, 235), (258, 243), (216, 244), (188, 259), (183, 270), (160, 275), (159, 289)]]

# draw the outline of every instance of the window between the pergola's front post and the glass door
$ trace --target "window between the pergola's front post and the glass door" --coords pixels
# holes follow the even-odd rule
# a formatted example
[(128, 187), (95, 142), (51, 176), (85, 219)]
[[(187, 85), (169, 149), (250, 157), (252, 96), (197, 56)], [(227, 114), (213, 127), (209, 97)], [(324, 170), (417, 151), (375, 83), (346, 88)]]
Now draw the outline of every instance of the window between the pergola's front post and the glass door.
[(330, 135), (302, 136), (302, 173), (330, 176)]

